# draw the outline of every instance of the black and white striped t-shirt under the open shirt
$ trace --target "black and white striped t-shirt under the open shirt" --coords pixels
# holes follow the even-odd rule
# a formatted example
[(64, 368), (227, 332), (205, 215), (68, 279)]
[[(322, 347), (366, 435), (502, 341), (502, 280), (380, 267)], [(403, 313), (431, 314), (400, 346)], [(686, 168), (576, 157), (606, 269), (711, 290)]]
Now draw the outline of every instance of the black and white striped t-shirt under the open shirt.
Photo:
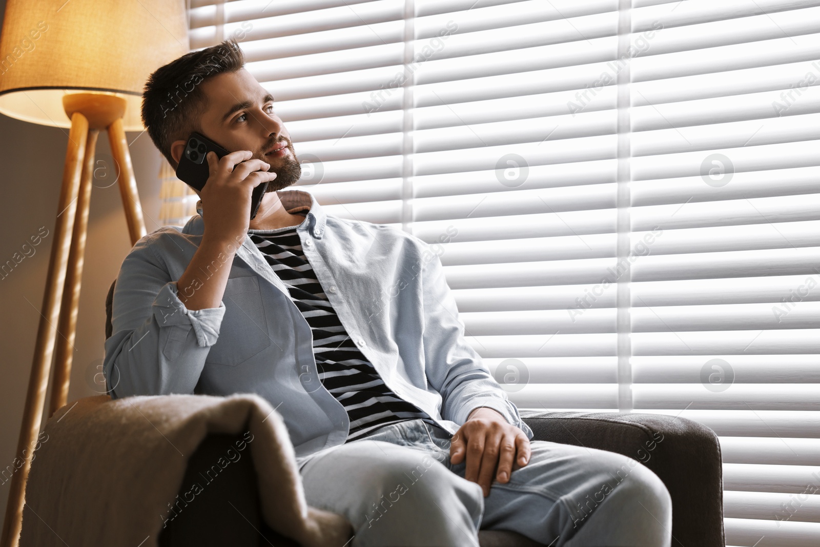
[(311, 327), (319, 380), (342, 403), (350, 419), (346, 442), (403, 420), (423, 418), (435, 425), (425, 412), (389, 390), (350, 339), (307, 262), (296, 226), (248, 230), (248, 237), (288, 286), (290, 299)]

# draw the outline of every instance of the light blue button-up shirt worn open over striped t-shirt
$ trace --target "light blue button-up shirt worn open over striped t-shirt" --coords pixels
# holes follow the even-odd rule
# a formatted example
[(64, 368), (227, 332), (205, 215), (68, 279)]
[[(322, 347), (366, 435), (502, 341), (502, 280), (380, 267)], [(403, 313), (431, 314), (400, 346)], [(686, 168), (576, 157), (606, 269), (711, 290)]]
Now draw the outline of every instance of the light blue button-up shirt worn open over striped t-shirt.
[[(464, 340), (433, 246), (392, 226), (327, 214), (303, 190), (277, 194), (285, 210), (308, 211), (296, 229), (303, 253), (390, 390), (450, 433), (473, 409), (489, 407), (532, 438)], [(197, 212), (184, 227), (139, 239), (122, 262), (103, 363), (109, 394), (254, 393), (280, 413), (297, 457), (344, 444), (348, 413), (319, 381), (311, 328), (250, 237), (232, 262), (221, 255), (198, 276), (230, 267), (219, 308), (189, 310), (180, 301), (176, 280), (203, 237), (201, 202)]]

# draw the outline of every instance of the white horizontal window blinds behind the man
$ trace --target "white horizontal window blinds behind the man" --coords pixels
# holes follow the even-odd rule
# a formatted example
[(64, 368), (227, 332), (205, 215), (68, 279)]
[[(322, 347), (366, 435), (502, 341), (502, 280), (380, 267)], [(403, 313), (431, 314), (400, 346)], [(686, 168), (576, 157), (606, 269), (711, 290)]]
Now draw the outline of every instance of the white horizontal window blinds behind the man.
[(339, 217), (440, 243), (519, 408), (719, 435), (727, 545), (820, 542), (820, 1), (193, 0)]

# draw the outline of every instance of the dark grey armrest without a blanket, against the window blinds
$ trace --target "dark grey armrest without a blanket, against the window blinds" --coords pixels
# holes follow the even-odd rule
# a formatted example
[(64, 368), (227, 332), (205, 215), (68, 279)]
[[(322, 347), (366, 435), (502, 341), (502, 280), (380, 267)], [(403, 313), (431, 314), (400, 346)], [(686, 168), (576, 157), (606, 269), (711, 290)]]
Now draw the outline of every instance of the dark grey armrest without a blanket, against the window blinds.
[(665, 414), (521, 411), (532, 440), (608, 450), (649, 467), (672, 496), (673, 547), (723, 547), (720, 444), (699, 422)]

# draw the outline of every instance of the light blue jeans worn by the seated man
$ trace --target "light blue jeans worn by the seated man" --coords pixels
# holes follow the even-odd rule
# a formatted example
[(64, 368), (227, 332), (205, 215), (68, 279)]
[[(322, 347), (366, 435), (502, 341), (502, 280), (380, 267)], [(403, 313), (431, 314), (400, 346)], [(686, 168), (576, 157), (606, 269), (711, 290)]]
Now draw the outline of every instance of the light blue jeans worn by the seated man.
[(531, 440), (530, 462), (485, 498), (450, 463), (451, 437), (408, 420), (297, 458), (307, 503), (353, 524), (350, 547), (477, 547), (480, 528), (550, 547), (671, 544), (672, 499), (635, 459)]

